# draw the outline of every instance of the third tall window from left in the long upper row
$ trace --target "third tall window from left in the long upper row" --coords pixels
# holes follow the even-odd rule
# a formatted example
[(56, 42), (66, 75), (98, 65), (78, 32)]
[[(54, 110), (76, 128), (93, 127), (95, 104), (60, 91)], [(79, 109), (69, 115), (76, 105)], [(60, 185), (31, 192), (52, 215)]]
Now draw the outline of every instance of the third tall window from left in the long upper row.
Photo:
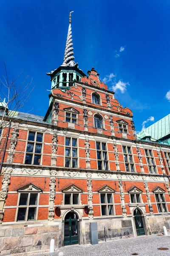
[(108, 170), (108, 153), (106, 143), (96, 142), (98, 170)]

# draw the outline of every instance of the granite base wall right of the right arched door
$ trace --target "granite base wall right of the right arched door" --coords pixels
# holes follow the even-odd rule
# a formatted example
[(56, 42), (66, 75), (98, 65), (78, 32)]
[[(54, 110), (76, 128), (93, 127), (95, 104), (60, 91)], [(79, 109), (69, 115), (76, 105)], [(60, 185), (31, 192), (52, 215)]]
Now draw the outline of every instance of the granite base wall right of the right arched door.
[(163, 233), (163, 226), (165, 226), (167, 228), (167, 232), (170, 233), (170, 216), (154, 215), (149, 218), (149, 223), (152, 234)]

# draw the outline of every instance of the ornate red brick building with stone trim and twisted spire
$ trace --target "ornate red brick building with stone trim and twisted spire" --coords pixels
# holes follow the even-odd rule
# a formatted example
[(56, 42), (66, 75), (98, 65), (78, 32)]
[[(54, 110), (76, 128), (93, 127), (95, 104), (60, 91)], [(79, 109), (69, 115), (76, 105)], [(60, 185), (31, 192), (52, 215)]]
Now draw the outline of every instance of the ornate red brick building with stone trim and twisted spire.
[(45, 117), (17, 113), (2, 130), (6, 254), (46, 250), (51, 238), (56, 247), (87, 244), (90, 222), (99, 240), (104, 226), (108, 239), (170, 229), (170, 147), (136, 139), (132, 111), (94, 68), (88, 76), (78, 68), (71, 41), (70, 18), (63, 64), (48, 73)]

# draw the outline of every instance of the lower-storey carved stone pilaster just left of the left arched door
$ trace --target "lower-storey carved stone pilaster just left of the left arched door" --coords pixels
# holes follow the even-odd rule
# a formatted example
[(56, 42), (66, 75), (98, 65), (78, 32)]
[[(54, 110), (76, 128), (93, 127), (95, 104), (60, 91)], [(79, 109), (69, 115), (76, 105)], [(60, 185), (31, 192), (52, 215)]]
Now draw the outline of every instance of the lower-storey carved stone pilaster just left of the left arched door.
[(56, 186), (56, 178), (52, 176), (50, 178), (50, 209), (48, 210), (48, 219), (52, 221), (54, 219), (54, 199), (55, 199), (55, 186)]

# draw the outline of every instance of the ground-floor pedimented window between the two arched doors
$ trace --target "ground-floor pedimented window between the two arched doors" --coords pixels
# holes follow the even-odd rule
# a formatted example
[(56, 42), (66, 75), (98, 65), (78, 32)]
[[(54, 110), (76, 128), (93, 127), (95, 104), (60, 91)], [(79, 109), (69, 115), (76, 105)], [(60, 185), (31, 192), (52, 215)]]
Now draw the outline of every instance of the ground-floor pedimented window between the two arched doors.
[(113, 215), (113, 196), (112, 194), (100, 194), (100, 203), (102, 216), (104, 215)]

